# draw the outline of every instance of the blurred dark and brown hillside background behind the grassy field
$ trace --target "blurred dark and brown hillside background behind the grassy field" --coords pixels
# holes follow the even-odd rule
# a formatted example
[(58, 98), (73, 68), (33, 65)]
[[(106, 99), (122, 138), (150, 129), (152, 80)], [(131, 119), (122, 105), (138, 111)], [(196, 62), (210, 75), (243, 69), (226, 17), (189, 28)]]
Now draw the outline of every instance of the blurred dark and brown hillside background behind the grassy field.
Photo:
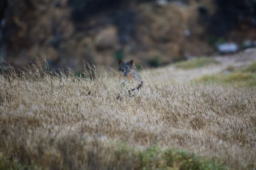
[(27, 67), (160, 67), (256, 47), (255, 0), (0, 0), (0, 57)]

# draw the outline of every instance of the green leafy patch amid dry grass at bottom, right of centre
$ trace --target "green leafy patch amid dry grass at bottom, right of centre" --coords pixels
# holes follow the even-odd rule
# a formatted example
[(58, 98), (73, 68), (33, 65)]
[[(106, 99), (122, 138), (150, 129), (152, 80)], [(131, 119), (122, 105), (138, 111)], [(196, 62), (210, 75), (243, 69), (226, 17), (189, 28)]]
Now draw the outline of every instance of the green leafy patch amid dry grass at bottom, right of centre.
[(148, 147), (140, 153), (141, 169), (158, 170), (224, 170), (223, 162), (202, 159), (193, 153), (185, 150), (160, 147)]

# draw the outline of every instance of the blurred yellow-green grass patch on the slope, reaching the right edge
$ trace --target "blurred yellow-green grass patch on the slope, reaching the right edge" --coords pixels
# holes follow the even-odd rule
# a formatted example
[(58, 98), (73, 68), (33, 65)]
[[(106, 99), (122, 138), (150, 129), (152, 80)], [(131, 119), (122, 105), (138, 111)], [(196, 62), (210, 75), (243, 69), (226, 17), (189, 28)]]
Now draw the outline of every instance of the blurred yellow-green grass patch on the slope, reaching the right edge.
[(236, 87), (253, 87), (256, 86), (256, 74), (250, 72), (233, 72), (230, 74), (206, 75), (196, 79), (199, 82), (215, 82), (221, 85), (233, 84)]

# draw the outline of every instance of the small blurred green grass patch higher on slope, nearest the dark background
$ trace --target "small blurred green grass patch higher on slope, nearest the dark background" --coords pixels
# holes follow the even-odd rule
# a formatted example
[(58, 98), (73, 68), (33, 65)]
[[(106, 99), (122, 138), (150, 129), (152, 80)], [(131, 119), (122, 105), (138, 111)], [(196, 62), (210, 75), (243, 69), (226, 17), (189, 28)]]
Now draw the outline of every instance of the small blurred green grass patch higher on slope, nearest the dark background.
[(200, 58), (191, 59), (187, 61), (177, 62), (175, 66), (177, 68), (192, 69), (192, 68), (201, 68), (210, 64), (219, 64), (219, 62), (212, 57), (200, 57)]

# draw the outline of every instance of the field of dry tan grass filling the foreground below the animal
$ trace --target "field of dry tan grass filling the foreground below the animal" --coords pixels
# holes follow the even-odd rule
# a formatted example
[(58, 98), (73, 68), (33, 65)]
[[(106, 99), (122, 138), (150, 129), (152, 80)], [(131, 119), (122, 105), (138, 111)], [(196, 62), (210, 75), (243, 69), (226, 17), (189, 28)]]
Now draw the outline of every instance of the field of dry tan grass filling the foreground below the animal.
[(131, 97), (115, 74), (1, 76), (0, 170), (256, 169), (255, 86), (203, 70), (144, 71)]

